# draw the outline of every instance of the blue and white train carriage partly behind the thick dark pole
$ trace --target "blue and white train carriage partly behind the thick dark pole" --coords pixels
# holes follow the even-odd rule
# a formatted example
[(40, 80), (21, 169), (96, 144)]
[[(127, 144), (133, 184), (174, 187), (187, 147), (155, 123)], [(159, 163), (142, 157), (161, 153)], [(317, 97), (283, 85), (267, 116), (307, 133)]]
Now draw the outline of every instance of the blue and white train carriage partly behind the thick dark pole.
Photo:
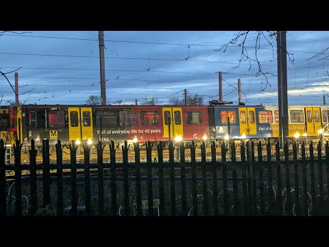
[[(289, 106), (288, 137), (319, 138), (328, 124), (327, 106)], [(213, 139), (263, 139), (279, 137), (278, 106), (210, 106)], [(230, 128), (230, 130), (229, 130)]]

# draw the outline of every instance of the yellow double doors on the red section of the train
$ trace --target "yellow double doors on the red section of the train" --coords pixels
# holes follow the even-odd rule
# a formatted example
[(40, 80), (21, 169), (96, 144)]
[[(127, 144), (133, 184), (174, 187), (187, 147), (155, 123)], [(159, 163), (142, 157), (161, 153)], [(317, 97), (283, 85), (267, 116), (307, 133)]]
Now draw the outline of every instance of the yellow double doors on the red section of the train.
[[(163, 137), (183, 137), (182, 108), (164, 107), (162, 108)], [(169, 122), (170, 119), (170, 122)]]

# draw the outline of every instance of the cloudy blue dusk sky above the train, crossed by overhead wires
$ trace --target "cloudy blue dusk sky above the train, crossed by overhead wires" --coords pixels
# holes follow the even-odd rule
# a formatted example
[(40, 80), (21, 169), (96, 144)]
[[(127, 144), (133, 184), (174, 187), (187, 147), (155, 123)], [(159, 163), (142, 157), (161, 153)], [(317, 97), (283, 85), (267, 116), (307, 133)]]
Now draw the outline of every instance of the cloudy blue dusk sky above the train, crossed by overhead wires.
[[(241, 78), (243, 102), (278, 104), (276, 47), (274, 60), (269, 44), (263, 42), (258, 59), (269, 75), (255, 76), (257, 66), (239, 62), (241, 47), (215, 51), (228, 43), (234, 32), (158, 31), (104, 32), (106, 49), (106, 97), (110, 103), (122, 99), (134, 104), (154, 97), (163, 104), (182, 97), (182, 91), (202, 95), (205, 102), (218, 99), (218, 71), (223, 71), (223, 100), (238, 102), (237, 81)], [(256, 36), (247, 45), (254, 47)], [(20, 102), (25, 104), (84, 104), (89, 95), (100, 95), (98, 31), (6, 33), (0, 37), (0, 70), (19, 69)], [(287, 32), (289, 105), (323, 104), (329, 95), (327, 54), (312, 58), (329, 47), (329, 32)], [(274, 44), (276, 45), (276, 44)], [(254, 56), (254, 49), (247, 48)], [(328, 51), (329, 52), (329, 51)], [(14, 85), (14, 73), (8, 74)], [(264, 90), (265, 89), (265, 90)], [(14, 102), (14, 92), (0, 78), (1, 105)], [(328, 96), (329, 97), (329, 96)], [(329, 99), (327, 99), (329, 104)]]

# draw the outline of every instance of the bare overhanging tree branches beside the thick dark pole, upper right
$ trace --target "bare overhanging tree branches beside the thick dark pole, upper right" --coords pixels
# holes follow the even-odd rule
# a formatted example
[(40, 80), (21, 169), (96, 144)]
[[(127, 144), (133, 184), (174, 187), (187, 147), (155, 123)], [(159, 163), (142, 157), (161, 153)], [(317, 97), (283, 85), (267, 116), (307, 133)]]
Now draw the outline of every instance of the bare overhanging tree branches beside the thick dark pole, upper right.
[[(256, 36), (256, 39), (254, 38), (255, 36)], [(258, 57), (259, 50), (261, 49), (260, 44), (263, 44), (263, 40), (265, 41), (265, 43), (268, 43), (272, 48), (272, 59), (269, 61), (273, 62), (274, 60), (276, 60), (276, 57), (274, 56), (274, 53), (276, 51), (273, 47), (273, 43), (274, 43), (274, 45), (276, 45), (276, 40), (277, 40), (276, 31), (266, 31), (266, 32), (265, 31), (240, 31), (238, 34), (236, 34), (235, 38), (232, 38), (228, 43), (223, 45), (220, 49), (217, 49), (217, 50), (215, 49), (215, 51), (226, 52), (228, 47), (230, 47), (231, 45), (238, 45), (239, 47), (241, 47), (241, 56), (238, 60), (239, 64), (233, 68), (236, 69), (237, 67), (239, 67), (241, 62), (243, 62), (243, 61), (249, 62), (248, 70), (252, 69), (252, 65), (256, 64), (258, 67), (258, 71), (255, 73), (255, 76), (263, 75), (266, 80), (266, 86), (264, 89), (262, 89), (262, 91), (264, 91), (267, 88), (267, 85), (271, 86), (267, 76), (273, 75), (273, 73), (271, 73), (271, 72), (263, 71), (262, 64), (265, 61), (259, 60), (259, 57)], [(255, 45), (252, 47), (247, 46), (246, 43), (249, 41), (253, 41)], [(250, 51), (252, 51), (252, 52), (250, 52)], [(293, 53), (291, 51), (287, 51), (287, 55), (289, 58), (288, 62), (293, 63), (294, 62)]]

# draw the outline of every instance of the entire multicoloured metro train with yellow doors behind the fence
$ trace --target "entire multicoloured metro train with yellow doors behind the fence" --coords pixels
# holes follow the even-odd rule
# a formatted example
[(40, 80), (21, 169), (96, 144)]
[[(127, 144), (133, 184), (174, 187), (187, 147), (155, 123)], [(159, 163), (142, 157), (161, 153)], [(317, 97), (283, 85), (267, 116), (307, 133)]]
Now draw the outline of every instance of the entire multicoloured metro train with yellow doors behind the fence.
[[(329, 106), (289, 106), (289, 137), (318, 138)], [(0, 111), (1, 139), (36, 146), (278, 138), (278, 106), (22, 105)]]

